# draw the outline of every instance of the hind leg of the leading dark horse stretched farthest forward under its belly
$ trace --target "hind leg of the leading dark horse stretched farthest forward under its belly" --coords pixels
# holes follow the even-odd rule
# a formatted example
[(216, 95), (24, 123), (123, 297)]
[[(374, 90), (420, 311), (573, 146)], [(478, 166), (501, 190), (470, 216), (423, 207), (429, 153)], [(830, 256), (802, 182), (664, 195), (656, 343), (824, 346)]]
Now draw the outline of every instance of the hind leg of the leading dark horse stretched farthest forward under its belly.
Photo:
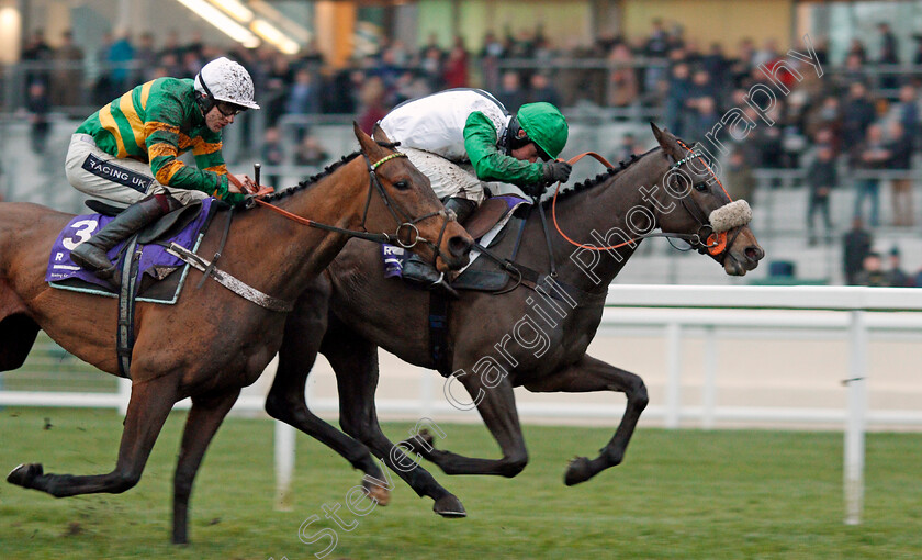
[[(339, 423), (350, 436), (367, 445), (419, 496), (435, 501), (432, 511), (443, 517), (464, 517), (461, 501), (395, 446), (378, 423), (374, 391), (378, 388), (378, 347), (344, 325), (331, 327), (323, 354), (336, 372), (339, 389)], [(384, 481), (384, 479), (378, 479)], [(373, 482), (373, 485), (380, 485)], [(386, 482), (386, 481), (385, 481)], [(363, 480), (369, 488), (369, 478)]]

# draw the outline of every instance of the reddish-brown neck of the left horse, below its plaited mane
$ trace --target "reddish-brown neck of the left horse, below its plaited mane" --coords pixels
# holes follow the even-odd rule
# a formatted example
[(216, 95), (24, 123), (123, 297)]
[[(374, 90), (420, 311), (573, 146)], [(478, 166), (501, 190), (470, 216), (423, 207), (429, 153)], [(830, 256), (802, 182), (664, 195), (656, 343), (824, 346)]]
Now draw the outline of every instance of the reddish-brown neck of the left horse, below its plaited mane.
[[(271, 203), (318, 224), (356, 231), (362, 222), (369, 188), (364, 159), (359, 156), (311, 186)], [(266, 225), (259, 227), (254, 223), (250, 226), (262, 237), (250, 255), (258, 255), (260, 267), (273, 271), (271, 278), (278, 284), (273, 293), (283, 294), (280, 296), (299, 294), (349, 240), (346, 234), (311, 227), (269, 209), (252, 211), (251, 216)]]

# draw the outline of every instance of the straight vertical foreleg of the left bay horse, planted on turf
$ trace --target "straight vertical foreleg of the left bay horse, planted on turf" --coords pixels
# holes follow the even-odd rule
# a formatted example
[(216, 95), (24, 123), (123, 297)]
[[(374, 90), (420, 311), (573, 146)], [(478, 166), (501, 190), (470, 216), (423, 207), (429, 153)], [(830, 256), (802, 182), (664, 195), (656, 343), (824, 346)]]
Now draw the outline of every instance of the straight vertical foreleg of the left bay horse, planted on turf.
[(189, 496), (195, 473), (214, 434), (239, 395), (238, 388), (217, 395), (192, 397), (173, 475), (172, 541), (177, 545), (189, 542)]

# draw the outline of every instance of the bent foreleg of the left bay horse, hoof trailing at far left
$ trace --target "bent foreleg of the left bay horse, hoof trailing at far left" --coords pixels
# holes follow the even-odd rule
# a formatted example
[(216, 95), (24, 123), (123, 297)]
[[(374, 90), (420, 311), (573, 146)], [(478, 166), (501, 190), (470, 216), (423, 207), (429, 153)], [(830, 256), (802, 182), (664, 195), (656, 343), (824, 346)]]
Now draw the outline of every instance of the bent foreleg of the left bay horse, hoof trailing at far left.
[(47, 492), (55, 497), (99, 492), (117, 494), (134, 488), (140, 480), (160, 428), (176, 403), (176, 391), (175, 376), (161, 376), (132, 384), (119, 460), (112, 472), (83, 477), (45, 474), (41, 463), (32, 463), (13, 469), (7, 482)]

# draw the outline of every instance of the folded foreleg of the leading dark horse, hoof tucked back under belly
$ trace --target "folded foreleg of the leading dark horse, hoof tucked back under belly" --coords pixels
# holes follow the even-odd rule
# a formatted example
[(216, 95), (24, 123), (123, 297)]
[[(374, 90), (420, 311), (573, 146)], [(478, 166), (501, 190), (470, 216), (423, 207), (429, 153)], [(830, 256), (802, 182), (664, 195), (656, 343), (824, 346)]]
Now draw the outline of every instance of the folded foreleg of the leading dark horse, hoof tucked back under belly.
[[(516, 397), (508, 378), (495, 387), (485, 387), (480, 376), (458, 378), (474, 396), (477, 412), (503, 452), (501, 459), (463, 457), (435, 449), (431, 436), (414, 436), (405, 444), (424, 458), (438, 464), (446, 474), (494, 474), (513, 478), (528, 464), (528, 450), (519, 425)], [(453, 382), (453, 380), (449, 381)]]

